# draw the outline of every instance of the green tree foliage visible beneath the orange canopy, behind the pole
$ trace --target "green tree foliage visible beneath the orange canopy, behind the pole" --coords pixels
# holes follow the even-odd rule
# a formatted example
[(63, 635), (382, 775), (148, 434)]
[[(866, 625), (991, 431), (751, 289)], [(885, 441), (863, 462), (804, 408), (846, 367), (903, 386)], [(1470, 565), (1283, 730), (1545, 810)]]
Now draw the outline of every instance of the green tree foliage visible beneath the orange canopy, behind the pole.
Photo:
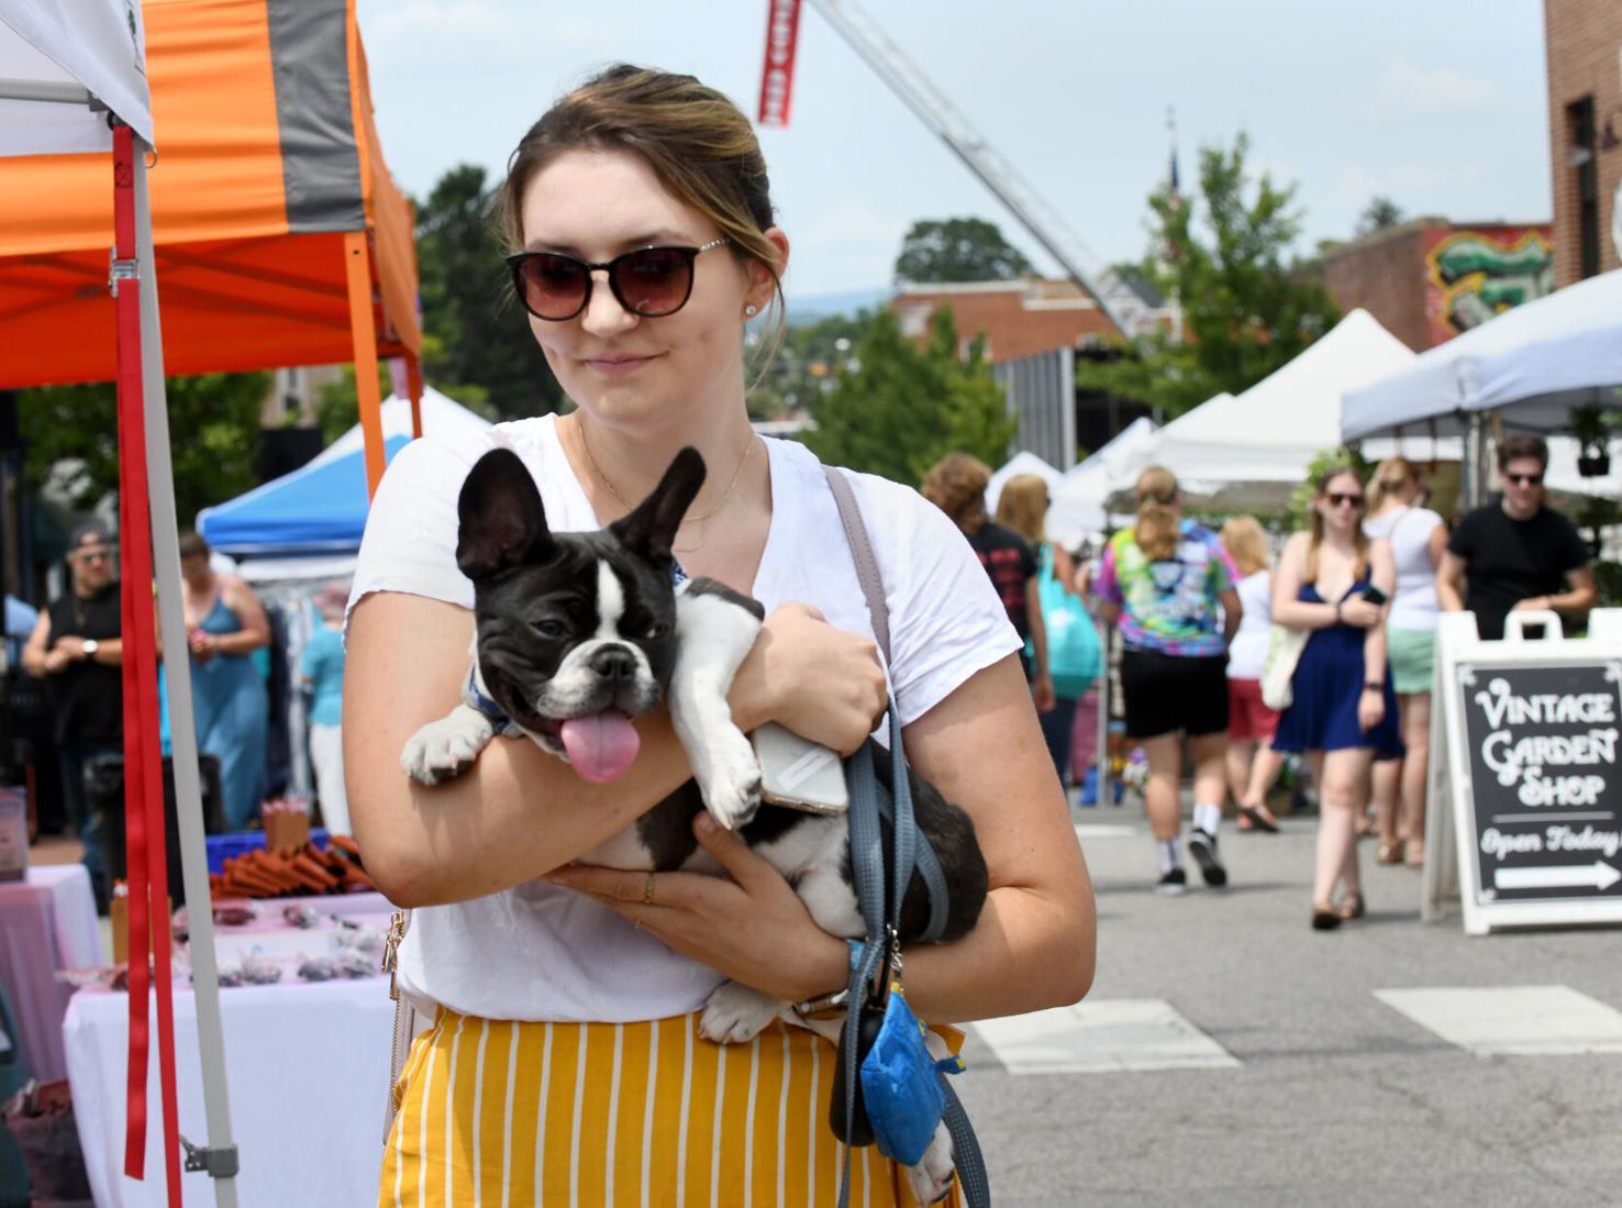
[[(260, 480), (260, 412), (268, 373), (204, 373), (169, 378), (169, 435), (175, 470), (175, 516), (188, 527), (198, 511), (224, 503)], [(88, 511), (118, 491), (118, 396), (112, 383), (39, 386), (18, 394), (18, 423), (28, 439), (28, 482), (37, 490), (52, 467), (78, 460), (70, 496)]]

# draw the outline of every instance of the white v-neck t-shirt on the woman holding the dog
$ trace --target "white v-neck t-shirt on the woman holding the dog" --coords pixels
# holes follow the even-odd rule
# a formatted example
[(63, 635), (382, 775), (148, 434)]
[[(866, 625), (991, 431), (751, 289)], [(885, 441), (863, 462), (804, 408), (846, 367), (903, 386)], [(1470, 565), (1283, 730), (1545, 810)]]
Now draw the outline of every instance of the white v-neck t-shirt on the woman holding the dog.
[[(871, 637), (856, 568), (821, 462), (796, 441), (762, 441), (770, 465), (772, 522), (754, 598), (767, 613), (790, 602), (811, 603), (830, 624)], [(498, 444), (513, 449), (535, 477), (555, 532), (599, 527), (553, 415), (501, 423), (454, 441), (412, 441), (394, 456), (371, 501), (350, 608), (371, 592), (474, 606), (474, 585), (456, 568), (456, 501), (474, 462)], [(957, 525), (912, 488), (866, 473), (850, 477), (884, 580), (890, 681), (907, 725), (972, 675), (1019, 650), (1020, 640)], [(446, 709), (453, 704), (446, 700)], [(545, 825), (540, 803), (535, 825)], [(464, 1015), (615, 1023), (697, 1010), (722, 976), (646, 931), (634, 931), (590, 898), (530, 880), (470, 902), (412, 911), (399, 952), (399, 979), (415, 999)]]

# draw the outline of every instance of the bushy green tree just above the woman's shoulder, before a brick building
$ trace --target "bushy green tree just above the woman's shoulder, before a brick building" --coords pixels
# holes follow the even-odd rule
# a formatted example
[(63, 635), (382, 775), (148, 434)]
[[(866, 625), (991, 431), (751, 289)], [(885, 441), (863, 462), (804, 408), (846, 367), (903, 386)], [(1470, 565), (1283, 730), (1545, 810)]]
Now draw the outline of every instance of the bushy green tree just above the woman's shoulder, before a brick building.
[(855, 345), (855, 366), (813, 415), (817, 428), (805, 441), (817, 457), (905, 483), (949, 452), (1001, 464), (1017, 426), (981, 341), (960, 355), (949, 306), (934, 313), (923, 347), (892, 311), (876, 313)]

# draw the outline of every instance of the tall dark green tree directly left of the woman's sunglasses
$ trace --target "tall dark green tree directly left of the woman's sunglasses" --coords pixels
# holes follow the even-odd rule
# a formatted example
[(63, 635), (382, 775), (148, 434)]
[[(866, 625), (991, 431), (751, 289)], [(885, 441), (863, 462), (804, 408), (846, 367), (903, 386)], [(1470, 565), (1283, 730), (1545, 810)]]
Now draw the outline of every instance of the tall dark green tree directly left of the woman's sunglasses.
[(513, 298), (493, 193), (482, 167), (459, 164), (417, 206), (423, 376), (462, 402), (488, 401), (500, 418), (539, 415), (563, 391)]

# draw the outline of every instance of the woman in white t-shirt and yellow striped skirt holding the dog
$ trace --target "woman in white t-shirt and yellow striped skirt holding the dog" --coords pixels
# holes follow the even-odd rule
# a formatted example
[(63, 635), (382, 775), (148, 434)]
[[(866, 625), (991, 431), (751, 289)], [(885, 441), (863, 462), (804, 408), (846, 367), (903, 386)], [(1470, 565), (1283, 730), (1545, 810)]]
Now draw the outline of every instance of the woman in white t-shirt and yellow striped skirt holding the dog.
[[(741, 1202), (748, 1185), (757, 1203), (832, 1203), (834, 1047), (777, 1023), (714, 1044), (696, 1022), (723, 978), (788, 1002), (842, 987), (845, 942), (707, 814), (696, 837), (723, 876), (571, 864), (689, 778), (668, 715), (637, 718), (637, 754), (608, 783), (526, 741), (491, 743), (436, 788), (399, 770), (467, 678), (456, 498), (491, 439), (530, 469), (558, 530), (624, 516), (697, 448), (710, 473), (676, 558), (767, 608), (728, 697), (740, 728), (775, 720), (848, 752), (886, 705), (822, 470), (756, 436), (744, 410), (744, 324), (780, 306), (788, 261), (744, 115), (689, 76), (610, 68), (524, 136), (501, 209), (530, 329), (577, 410), (407, 446), (349, 616), (350, 812), (368, 871), (417, 908), (401, 981), (436, 1018), (399, 1086), (381, 1202), (613, 1203), (678, 1185)], [(975, 819), (991, 876), (970, 936), (907, 952), (908, 999), (931, 1022), (1074, 1002), (1092, 981), (1092, 890), (1017, 639), (946, 517), (907, 488), (853, 486), (908, 756)], [(856, 1153), (855, 1195), (905, 1203), (903, 1182)]]

